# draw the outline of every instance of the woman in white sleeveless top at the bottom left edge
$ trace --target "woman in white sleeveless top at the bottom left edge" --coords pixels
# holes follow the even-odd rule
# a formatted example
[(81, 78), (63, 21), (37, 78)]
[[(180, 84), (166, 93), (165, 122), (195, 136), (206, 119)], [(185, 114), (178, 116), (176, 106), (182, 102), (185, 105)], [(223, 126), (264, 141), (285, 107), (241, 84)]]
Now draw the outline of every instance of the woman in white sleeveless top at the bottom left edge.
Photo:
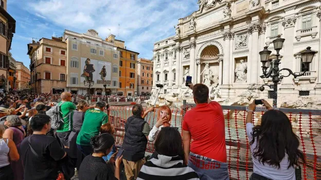
[(14, 179), (10, 161), (18, 161), (19, 153), (11, 139), (4, 139), (5, 126), (0, 125), (0, 179)]

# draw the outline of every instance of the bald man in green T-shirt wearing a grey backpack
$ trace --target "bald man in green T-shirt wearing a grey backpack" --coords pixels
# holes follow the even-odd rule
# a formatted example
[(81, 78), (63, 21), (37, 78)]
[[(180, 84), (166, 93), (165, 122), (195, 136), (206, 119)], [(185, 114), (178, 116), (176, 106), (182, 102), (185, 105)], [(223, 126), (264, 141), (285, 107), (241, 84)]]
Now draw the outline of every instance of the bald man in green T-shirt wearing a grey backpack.
[(71, 102), (72, 94), (70, 92), (61, 93), (60, 98), (61, 102), (58, 103), (58, 106), (60, 106), (64, 124), (57, 129), (57, 136), (59, 137), (60, 142), (64, 145), (64, 147), (69, 148), (68, 137), (70, 132), (72, 132), (73, 114), (74, 110), (76, 110), (76, 106)]

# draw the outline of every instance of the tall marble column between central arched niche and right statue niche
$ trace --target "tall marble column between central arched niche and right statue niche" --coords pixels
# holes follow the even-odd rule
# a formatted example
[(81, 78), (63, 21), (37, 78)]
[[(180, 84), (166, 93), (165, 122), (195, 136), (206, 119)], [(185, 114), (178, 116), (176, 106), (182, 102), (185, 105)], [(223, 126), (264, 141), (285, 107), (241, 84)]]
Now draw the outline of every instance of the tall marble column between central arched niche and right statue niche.
[(224, 34), (224, 63), (223, 63), (223, 85), (229, 85), (229, 48), (231, 32), (225, 32)]

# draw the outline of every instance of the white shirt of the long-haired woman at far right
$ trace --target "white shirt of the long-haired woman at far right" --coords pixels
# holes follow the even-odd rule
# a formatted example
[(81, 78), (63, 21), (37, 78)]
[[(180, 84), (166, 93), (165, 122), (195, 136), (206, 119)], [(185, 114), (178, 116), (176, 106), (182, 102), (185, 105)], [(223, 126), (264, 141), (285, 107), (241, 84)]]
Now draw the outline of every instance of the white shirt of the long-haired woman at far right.
[[(246, 134), (249, 142), (251, 142), (253, 139), (253, 136), (251, 134), (253, 131), (253, 127), (254, 125), (252, 123), (246, 124)], [(252, 152), (252, 159), (253, 159), (253, 172), (275, 180), (295, 180), (295, 169), (292, 166), (288, 169), (289, 167), (288, 154), (286, 154), (286, 156), (284, 156), (284, 158), (280, 162), (279, 169), (277, 167), (270, 166), (267, 163), (264, 163), (263, 165), (258, 161), (258, 159), (256, 159), (253, 156), (253, 151), (257, 144), (257, 139), (255, 140), (256, 141), (253, 143), (253, 145), (251, 145), (251, 152)]]

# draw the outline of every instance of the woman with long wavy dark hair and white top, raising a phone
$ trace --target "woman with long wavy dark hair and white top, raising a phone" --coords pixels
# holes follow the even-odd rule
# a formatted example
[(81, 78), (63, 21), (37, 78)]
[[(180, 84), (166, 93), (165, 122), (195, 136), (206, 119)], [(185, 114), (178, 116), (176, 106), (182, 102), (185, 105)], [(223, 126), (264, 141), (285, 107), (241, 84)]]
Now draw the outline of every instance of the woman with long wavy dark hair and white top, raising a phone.
[(295, 168), (299, 159), (305, 163), (304, 154), (299, 148), (299, 138), (292, 130), (290, 119), (281, 111), (273, 110), (262, 99), (269, 110), (262, 118), (261, 124), (252, 123), (255, 103), (248, 106), (246, 116), (246, 134), (253, 158), (253, 174), (250, 180), (282, 179), (295, 180)]

